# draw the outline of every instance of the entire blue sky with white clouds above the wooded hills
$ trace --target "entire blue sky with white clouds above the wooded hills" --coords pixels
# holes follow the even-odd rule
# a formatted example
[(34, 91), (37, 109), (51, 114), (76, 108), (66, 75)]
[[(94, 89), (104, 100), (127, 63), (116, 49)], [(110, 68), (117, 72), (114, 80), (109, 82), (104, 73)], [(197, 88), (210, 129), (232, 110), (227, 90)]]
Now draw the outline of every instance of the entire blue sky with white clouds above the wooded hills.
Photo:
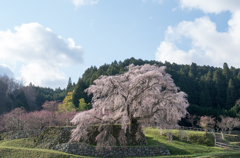
[(26, 84), (131, 57), (240, 67), (239, 0), (8, 0), (0, 19), (0, 74)]

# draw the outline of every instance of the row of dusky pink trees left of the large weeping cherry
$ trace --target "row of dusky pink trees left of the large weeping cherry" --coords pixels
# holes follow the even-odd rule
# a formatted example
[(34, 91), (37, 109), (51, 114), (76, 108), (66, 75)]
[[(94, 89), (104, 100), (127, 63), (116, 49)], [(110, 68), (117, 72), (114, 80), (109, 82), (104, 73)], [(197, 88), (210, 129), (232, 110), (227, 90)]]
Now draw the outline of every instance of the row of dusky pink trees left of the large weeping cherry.
[(57, 102), (46, 102), (41, 111), (26, 112), (24, 109), (16, 108), (11, 112), (0, 115), (0, 132), (13, 130), (43, 129), (46, 126), (71, 125), (70, 121), (76, 114), (75, 111), (67, 113), (56, 113), (49, 105), (57, 105)]

